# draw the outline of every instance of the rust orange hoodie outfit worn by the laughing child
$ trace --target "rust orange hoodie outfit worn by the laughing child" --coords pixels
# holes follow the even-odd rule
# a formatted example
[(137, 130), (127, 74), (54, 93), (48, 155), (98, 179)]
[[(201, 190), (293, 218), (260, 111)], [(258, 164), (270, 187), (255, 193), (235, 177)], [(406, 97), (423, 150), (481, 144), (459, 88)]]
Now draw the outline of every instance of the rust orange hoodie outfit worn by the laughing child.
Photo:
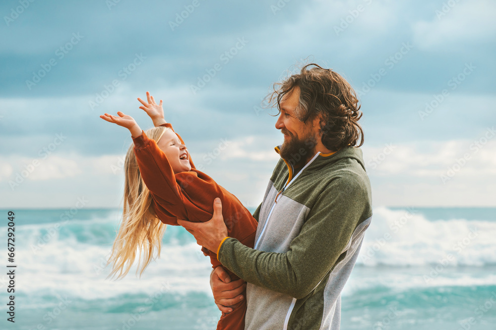
[[(173, 130), (169, 123), (161, 126)], [(177, 133), (176, 135), (185, 144), (181, 136)], [(174, 174), (165, 153), (143, 131), (140, 136), (132, 140), (140, 175), (150, 190), (154, 209), (160, 221), (173, 226), (178, 226), (178, 219), (206, 222), (212, 218), (214, 199), (219, 197), (222, 201), (222, 213), (228, 236), (238, 239), (248, 247), (253, 247), (257, 221), (236, 196), (219, 186), (205, 173), (198, 171), (191, 156), (189, 156), (191, 170)], [(202, 251), (210, 257), (212, 268), (221, 265), (217, 260), (217, 251), (212, 252), (204, 247)], [(228, 269), (226, 271), (232, 281), (239, 279)], [(246, 297), (246, 291), (243, 295)], [(231, 313), (223, 313), (217, 324), (217, 330), (244, 330), (245, 314), (246, 298)]]

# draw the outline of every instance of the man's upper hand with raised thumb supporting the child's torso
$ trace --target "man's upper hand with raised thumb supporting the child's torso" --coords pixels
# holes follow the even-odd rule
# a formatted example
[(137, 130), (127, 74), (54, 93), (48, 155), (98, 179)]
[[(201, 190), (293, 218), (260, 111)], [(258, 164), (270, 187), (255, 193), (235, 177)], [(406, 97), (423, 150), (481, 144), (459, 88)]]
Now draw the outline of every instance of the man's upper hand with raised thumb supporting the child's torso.
[(204, 246), (217, 253), (220, 242), (227, 237), (227, 227), (222, 217), (222, 202), (220, 198), (214, 199), (214, 214), (207, 222), (190, 222), (178, 220), (178, 224), (193, 234), (198, 245)]

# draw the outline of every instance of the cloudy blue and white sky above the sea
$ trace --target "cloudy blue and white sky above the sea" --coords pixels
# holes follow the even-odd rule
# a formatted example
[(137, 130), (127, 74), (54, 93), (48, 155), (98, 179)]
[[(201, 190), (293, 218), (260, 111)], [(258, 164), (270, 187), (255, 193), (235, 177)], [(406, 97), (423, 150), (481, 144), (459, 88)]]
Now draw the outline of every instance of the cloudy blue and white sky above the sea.
[(0, 3), (0, 208), (122, 207), (129, 132), (166, 120), (247, 207), (283, 141), (273, 84), (302, 65), (360, 98), (373, 206), (496, 206), (492, 0)]

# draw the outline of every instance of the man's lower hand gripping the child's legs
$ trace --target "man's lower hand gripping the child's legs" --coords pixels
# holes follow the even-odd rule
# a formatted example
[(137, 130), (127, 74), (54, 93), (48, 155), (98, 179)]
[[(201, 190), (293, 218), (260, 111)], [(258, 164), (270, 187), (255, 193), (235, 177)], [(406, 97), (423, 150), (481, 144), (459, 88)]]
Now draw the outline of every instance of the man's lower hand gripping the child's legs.
[(246, 282), (243, 279), (231, 282), (229, 274), (222, 266), (216, 267), (210, 274), (210, 287), (215, 304), (223, 313), (231, 313), (245, 299), (241, 293), (246, 288)]

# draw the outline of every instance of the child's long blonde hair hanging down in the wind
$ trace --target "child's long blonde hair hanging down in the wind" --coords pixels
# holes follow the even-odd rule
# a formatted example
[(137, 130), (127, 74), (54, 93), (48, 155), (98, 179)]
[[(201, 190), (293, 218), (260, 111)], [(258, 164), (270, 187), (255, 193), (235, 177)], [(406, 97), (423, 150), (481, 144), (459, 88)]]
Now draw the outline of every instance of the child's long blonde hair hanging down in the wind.
[[(145, 134), (158, 142), (167, 130), (167, 127), (159, 126), (145, 131)], [(112, 272), (107, 278), (114, 277), (119, 272), (116, 280), (123, 278), (129, 272), (136, 257), (136, 249), (139, 249), (136, 269), (136, 275), (140, 270), (139, 277), (151, 259), (154, 259), (155, 248), (160, 258), (162, 237), (166, 228), (152, 207), (150, 190), (141, 178), (133, 148), (134, 144), (131, 144), (125, 156), (123, 218), (112, 246), (111, 256), (107, 261), (107, 266), (112, 263)]]

